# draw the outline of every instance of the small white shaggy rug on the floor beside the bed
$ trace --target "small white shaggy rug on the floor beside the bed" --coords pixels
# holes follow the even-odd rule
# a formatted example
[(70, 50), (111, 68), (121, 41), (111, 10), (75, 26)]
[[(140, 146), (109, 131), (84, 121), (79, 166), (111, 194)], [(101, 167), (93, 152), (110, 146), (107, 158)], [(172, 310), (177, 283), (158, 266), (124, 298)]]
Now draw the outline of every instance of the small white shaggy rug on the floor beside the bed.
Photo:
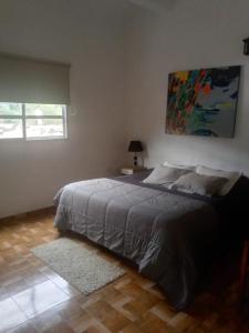
[(65, 238), (31, 251), (86, 295), (125, 274), (125, 270), (117, 264)]

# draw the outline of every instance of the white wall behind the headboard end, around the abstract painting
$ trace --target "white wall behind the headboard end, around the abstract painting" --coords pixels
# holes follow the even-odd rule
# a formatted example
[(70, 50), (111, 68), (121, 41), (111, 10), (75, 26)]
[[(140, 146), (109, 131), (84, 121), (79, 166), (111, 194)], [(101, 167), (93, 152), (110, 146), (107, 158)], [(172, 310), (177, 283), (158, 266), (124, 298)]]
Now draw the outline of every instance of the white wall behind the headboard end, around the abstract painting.
[[(162, 16), (134, 20), (127, 33), (128, 138), (147, 147), (145, 164), (168, 159), (249, 170), (249, 37), (247, 0), (176, 0)], [(177, 70), (241, 64), (235, 139), (165, 134), (167, 79)]]

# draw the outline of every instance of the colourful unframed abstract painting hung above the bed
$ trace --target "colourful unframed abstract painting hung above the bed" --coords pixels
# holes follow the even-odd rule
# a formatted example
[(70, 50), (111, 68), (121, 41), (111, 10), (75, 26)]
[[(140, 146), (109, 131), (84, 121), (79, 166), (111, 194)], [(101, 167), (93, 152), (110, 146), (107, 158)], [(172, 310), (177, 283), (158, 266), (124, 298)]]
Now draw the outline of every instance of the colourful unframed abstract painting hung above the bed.
[(166, 133), (232, 138), (240, 67), (170, 73)]

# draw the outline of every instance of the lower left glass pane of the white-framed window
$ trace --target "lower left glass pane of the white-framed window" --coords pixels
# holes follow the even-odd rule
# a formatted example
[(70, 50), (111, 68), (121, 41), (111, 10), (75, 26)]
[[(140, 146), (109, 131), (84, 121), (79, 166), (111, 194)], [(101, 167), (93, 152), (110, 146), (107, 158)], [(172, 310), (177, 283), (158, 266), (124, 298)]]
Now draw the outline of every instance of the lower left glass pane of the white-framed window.
[(21, 119), (0, 119), (0, 139), (22, 138)]

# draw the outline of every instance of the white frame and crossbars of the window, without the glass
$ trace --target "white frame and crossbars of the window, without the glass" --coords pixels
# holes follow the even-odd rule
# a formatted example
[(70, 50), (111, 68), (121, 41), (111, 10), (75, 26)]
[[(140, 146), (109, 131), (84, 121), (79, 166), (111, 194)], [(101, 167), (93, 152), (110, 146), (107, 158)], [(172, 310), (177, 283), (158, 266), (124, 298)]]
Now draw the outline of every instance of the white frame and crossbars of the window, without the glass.
[[(11, 102), (4, 102), (4, 103), (11, 103)], [(65, 140), (68, 139), (68, 105), (62, 105), (62, 115), (27, 115), (25, 114), (25, 104), (32, 104), (32, 103), (18, 103), (21, 105), (21, 114), (20, 115), (4, 115), (0, 114), (0, 119), (19, 119), (22, 121), (22, 137), (21, 138), (0, 138), (0, 142), (3, 141), (14, 141), (14, 140), (21, 140), (21, 141), (46, 141), (46, 140)], [(41, 104), (42, 105), (42, 104)], [(46, 105), (46, 104), (44, 104)], [(53, 104), (53, 105), (60, 105), (60, 104)], [(28, 119), (61, 119), (62, 125), (63, 125), (63, 135), (51, 135), (51, 137), (33, 137), (28, 138), (27, 137), (27, 120)]]

